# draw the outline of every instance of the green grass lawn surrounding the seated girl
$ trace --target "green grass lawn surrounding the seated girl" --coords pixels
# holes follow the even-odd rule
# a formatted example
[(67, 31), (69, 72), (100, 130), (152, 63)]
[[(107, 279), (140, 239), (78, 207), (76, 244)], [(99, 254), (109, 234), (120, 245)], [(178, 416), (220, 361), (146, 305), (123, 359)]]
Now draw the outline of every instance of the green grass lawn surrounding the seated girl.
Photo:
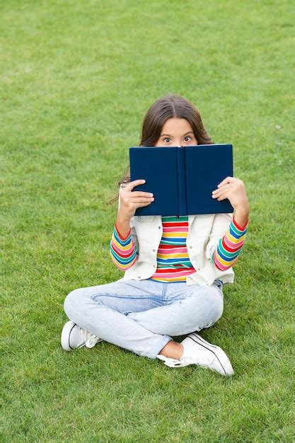
[[(291, 3), (1, 2), (3, 442), (294, 441)], [(202, 333), (232, 379), (108, 343), (59, 345), (66, 294), (122, 277), (108, 200), (166, 93), (233, 143), (250, 198), (236, 284)]]

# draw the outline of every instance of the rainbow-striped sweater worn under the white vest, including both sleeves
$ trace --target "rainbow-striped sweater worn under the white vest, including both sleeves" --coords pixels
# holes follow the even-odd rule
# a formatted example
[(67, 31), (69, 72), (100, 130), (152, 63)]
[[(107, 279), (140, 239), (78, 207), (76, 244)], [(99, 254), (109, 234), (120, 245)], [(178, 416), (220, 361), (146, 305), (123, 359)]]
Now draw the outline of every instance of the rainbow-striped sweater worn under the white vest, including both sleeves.
[[(158, 282), (185, 282), (187, 275), (196, 272), (190, 263), (186, 239), (188, 217), (162, 217), (163, 234), (158, 246), (157, 268), (151, 279)], [(248, 222), (243, 228), (238, 226), (233, 217), (229, 229), (220, 239), (212, 263), (219, 270), (226, 270), (238, 260), (245, 242)], [(131, 230), (122, 238), (115, 226), (110, 241), (110, 254), (117, 267), (125, 271), (137, 260), (137, 247), (134, 245)]]

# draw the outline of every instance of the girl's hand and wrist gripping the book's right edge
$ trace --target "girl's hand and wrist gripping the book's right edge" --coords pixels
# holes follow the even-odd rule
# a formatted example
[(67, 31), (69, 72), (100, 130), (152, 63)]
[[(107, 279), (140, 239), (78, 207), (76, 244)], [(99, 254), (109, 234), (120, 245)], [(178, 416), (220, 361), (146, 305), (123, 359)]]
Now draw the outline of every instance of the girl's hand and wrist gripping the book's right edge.
[(249, 216), (249, 202), (243, 181), (226, 177), (217, 185), (217, 188), (212, 192), (212, 197), (219, 201), (228, 198), (235, 210), (236, 222), (245, 224)]

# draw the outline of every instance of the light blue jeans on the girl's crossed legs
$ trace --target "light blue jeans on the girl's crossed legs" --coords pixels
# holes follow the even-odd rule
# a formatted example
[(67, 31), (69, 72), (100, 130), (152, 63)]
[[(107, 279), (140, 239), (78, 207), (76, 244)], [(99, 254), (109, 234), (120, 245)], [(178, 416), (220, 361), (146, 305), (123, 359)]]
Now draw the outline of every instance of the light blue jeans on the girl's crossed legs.
[(64, 301), (66, 315), (99, 338), (138, 355), (156, 358), (173, 340), (209, 328), (222, 315), (222, 283), (117, 280), (75, 289)]

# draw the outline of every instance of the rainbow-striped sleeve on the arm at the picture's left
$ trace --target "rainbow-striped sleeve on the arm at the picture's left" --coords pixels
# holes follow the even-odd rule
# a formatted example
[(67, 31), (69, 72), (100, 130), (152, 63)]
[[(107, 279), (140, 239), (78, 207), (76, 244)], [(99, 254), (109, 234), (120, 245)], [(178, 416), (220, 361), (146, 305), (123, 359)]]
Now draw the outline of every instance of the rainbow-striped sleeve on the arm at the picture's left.
[(126, 271), (136, 262), (137, 247), (133, 243), (131, 229), (129, 230), (127, 237), (122, 238), (115, 225), (110, 241), (110, 255), (112, 261), (122, 271)]

